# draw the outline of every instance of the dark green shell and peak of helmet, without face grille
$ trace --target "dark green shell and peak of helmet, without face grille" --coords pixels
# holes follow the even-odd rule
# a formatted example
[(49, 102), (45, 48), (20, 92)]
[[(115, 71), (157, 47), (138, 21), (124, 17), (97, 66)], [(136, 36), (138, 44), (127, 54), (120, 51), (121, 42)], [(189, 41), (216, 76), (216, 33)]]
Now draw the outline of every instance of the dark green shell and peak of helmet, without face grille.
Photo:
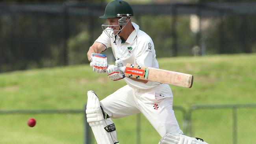
[(134, 12), (130, 4), (124, 0), (113, 0), (109, 2), (106, 6), (104, 15), (100, 16), (100, 18), (115, 18), (120, 15), (128, 15), (134, 16)]

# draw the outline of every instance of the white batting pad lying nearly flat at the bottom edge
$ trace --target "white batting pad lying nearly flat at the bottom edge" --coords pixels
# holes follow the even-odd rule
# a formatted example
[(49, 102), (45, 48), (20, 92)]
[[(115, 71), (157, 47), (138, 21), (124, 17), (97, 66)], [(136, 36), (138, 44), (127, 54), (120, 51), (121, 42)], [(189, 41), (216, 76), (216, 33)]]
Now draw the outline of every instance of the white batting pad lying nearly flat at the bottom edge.
[(158, 144), (208, 144), (204, 141), (197, 140), (197, 138), (188, 137), (180, 133), (167, 133), (161, 138)]

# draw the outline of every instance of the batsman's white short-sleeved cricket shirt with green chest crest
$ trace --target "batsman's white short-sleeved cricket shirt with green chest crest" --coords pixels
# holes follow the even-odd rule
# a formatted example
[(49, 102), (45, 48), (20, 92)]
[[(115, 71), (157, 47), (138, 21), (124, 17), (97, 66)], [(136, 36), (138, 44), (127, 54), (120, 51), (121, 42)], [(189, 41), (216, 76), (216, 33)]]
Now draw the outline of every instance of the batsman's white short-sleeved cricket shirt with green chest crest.
[[(122, 42), (119, 35), (112, 38), (108, 37), (104, 31), (102, 31), (102, 34), (95, 42), (104, 44), (106, 48), (112, 48), (115, 59), (121, 59), (124, 62), (124, 65), (131, 63), (158, 68), (156, 51), (152, 39), (147, 33), (139, 30), (139, 26), (134, 22), (132, 22), (132, 26), (134, 26), (135, 30), (132, 31), (125, 42)], [(114, 35), (113, 31), (111, 35)], [(130, 78), (124, 78), (124, 81), (134, 89), (151, 89), (156, 85), (160, 85), (160, 83), (152, 81), (141, 83)]]

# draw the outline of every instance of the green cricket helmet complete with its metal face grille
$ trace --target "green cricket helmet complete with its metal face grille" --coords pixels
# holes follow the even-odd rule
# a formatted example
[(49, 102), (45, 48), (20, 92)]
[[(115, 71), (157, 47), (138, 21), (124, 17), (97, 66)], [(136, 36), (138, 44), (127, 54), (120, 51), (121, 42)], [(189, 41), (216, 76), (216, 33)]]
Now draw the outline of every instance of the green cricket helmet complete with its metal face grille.
[[(126, 24), (131, 20), (132, 16), (134, 16), (134, 12), (128, 2), (124, 0), (113, 0), (112, 2), (108, 3), (104, 15), (100, 18), (118, 17), (118, 25), (109, 25), (108, 23), (102, 24), (102, 29), (108, 35), (108, 37), (114, 37), (126, 26)], [(111, 28), (113, 26), (119, 26), (119, 30), (113, 30)]]

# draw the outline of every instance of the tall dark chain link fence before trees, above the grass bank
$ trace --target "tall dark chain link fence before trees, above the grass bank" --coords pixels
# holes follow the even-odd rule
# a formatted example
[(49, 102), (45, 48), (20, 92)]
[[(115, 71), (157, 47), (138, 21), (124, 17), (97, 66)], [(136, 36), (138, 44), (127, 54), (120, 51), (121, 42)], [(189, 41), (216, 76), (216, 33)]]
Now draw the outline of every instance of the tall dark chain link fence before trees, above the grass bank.
[[(87, 63), (105, 6), (0, 3), (0, 72)], [(254, 2), (132, 7), (132, 21), (153, 39), (157, 57), (256, 52)], [(114, 60), (111, 49), (104, 53)]]

